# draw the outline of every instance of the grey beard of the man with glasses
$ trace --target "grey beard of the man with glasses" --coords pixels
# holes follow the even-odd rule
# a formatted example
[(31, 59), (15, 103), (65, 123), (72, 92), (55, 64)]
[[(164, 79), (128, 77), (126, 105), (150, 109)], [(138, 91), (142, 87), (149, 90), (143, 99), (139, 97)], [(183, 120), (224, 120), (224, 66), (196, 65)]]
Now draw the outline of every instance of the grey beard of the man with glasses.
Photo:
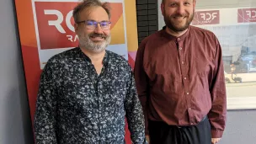
[[(90, 37), (102, 37), (104, 40), (103, 41), (93, 41), (90, 40)], [(97, 34), (97, 33), (91, 33), (88, 35), (84, 35), (84, 33), (79, 33), (78, 34), (79, 38), (79, 46), (81, 48), (84, 48), (88, 51), (92, 51), (94, 53), (99, 53), (101, 51), (104, 51), (106, 47), (109, 45), (110, 40), (111, 40), (111, 35), (102, 35), (102, 34)]]

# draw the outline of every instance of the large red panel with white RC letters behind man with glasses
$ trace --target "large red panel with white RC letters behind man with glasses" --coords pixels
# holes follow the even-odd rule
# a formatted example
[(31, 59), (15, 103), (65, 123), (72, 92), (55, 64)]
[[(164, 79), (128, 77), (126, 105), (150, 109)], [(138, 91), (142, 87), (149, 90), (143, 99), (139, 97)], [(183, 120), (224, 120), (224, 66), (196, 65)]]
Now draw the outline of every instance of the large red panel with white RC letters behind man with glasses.
[(40, 49), (75, 47), (78, 38), (73, 27), (74, 2), (35, 2)]

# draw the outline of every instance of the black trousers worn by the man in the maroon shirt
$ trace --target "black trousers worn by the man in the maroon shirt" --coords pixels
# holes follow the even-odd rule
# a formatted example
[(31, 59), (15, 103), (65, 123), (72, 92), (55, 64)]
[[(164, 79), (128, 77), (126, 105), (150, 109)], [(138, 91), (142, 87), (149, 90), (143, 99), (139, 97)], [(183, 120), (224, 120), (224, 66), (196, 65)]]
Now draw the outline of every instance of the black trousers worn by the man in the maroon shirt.
[(151, 144), (211, 144), (211, 125), (206, 117), (198, 125), (175, 126), (148, 121)]

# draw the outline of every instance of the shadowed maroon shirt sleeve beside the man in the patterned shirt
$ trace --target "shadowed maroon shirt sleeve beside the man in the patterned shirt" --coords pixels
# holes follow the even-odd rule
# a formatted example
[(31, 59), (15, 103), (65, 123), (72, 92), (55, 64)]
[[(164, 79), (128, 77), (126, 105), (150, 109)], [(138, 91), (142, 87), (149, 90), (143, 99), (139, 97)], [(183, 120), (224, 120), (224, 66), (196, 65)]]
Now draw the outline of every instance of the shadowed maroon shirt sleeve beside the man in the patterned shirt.
[(149, 97), (149, 83), (147, 73), (143, 68), (143, 57), (145, 50), (146, 40), (141, 42), (141, 45), (136, 54), (136, 61), (134, 67), (135, 80), (136, 80), (136, 88), (139, 95), (139, 99), (141, 101), (144, 117), (145, 117), (145, 134), (149, 135), (148, 131), (148, 116), (147, 116), (147, 99)]

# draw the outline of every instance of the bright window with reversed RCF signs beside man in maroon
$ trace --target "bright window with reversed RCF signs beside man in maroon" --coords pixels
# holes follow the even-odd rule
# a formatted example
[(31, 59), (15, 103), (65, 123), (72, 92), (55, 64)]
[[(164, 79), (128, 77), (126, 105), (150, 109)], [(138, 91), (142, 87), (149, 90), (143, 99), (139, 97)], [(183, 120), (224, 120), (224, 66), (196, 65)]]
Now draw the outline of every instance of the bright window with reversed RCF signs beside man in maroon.
[(200, 9), (192, 25), (211, 30), (222, 48), (228, 109), (256, 108), (256, 8)]

